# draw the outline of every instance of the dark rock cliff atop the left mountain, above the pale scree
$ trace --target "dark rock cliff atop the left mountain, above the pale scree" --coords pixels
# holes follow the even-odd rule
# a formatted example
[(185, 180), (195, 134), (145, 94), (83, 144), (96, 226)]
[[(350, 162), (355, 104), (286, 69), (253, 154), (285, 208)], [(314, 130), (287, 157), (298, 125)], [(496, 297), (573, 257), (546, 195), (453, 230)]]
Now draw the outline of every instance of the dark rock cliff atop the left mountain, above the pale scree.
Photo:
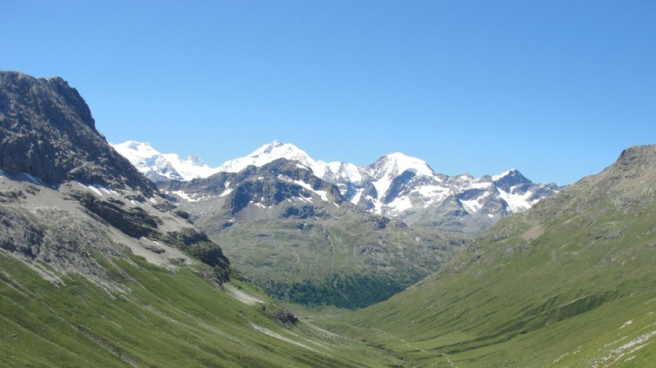
[(98, 133), (75, 88), (59, 77), (0, 72), (0, 168), (48, 184), (77, 180), (150, 194), (153, 183)]

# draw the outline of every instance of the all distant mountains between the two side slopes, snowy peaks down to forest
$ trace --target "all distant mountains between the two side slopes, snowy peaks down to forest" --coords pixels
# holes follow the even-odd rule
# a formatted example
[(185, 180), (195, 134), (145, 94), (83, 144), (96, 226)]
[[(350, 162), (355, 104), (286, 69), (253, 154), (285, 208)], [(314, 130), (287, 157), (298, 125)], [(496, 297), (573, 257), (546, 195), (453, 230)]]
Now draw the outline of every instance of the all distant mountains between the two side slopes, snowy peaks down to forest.
[(356, 166), (273, 142), (209, 168), (146, 143), (114, 147), (157, 179), (240, 272), (271, 295), (308, 305), (389, 298), (437, 271), (470, 234), (558, 190), (516, 170), (448, 177), (402, 153)]

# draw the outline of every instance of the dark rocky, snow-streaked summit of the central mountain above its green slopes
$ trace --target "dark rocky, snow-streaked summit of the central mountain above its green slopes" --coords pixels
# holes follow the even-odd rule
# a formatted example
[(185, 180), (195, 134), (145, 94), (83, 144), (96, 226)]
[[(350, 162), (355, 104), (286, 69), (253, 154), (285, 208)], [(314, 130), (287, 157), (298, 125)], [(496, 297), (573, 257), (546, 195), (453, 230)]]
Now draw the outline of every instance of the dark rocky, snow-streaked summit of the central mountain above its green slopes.
[[(336, 186), (287, 159), (262, 167), (249, 166), (239, 173), (217, 173), (190, 182), (172, 180), (158, 185), (165, 193), (182, 199), (183, 207), (197, 217), (220, 208), (225, 226), (235, 217), (258, 220), (309, 213), (328, 216), (347, 202)], [(356, 206), (350, 209), (359, 210)]]

